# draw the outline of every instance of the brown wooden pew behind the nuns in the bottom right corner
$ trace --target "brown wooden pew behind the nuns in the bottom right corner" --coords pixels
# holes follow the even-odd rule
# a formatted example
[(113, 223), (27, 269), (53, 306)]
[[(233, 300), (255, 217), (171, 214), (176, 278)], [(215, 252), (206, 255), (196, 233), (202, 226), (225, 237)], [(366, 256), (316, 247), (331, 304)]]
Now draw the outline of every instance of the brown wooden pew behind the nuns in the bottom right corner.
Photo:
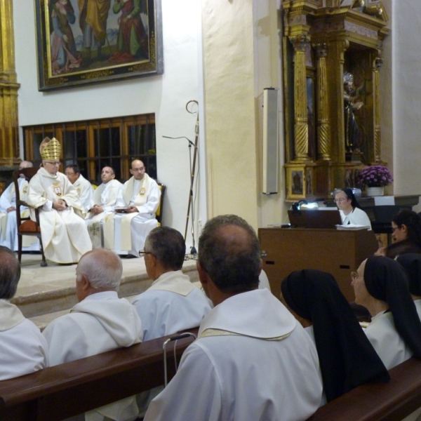
[(421, 360), (389, 370), (388, 383), (362, 385), (319, 408), (308, 421), (401, 421), (421, 406)]

